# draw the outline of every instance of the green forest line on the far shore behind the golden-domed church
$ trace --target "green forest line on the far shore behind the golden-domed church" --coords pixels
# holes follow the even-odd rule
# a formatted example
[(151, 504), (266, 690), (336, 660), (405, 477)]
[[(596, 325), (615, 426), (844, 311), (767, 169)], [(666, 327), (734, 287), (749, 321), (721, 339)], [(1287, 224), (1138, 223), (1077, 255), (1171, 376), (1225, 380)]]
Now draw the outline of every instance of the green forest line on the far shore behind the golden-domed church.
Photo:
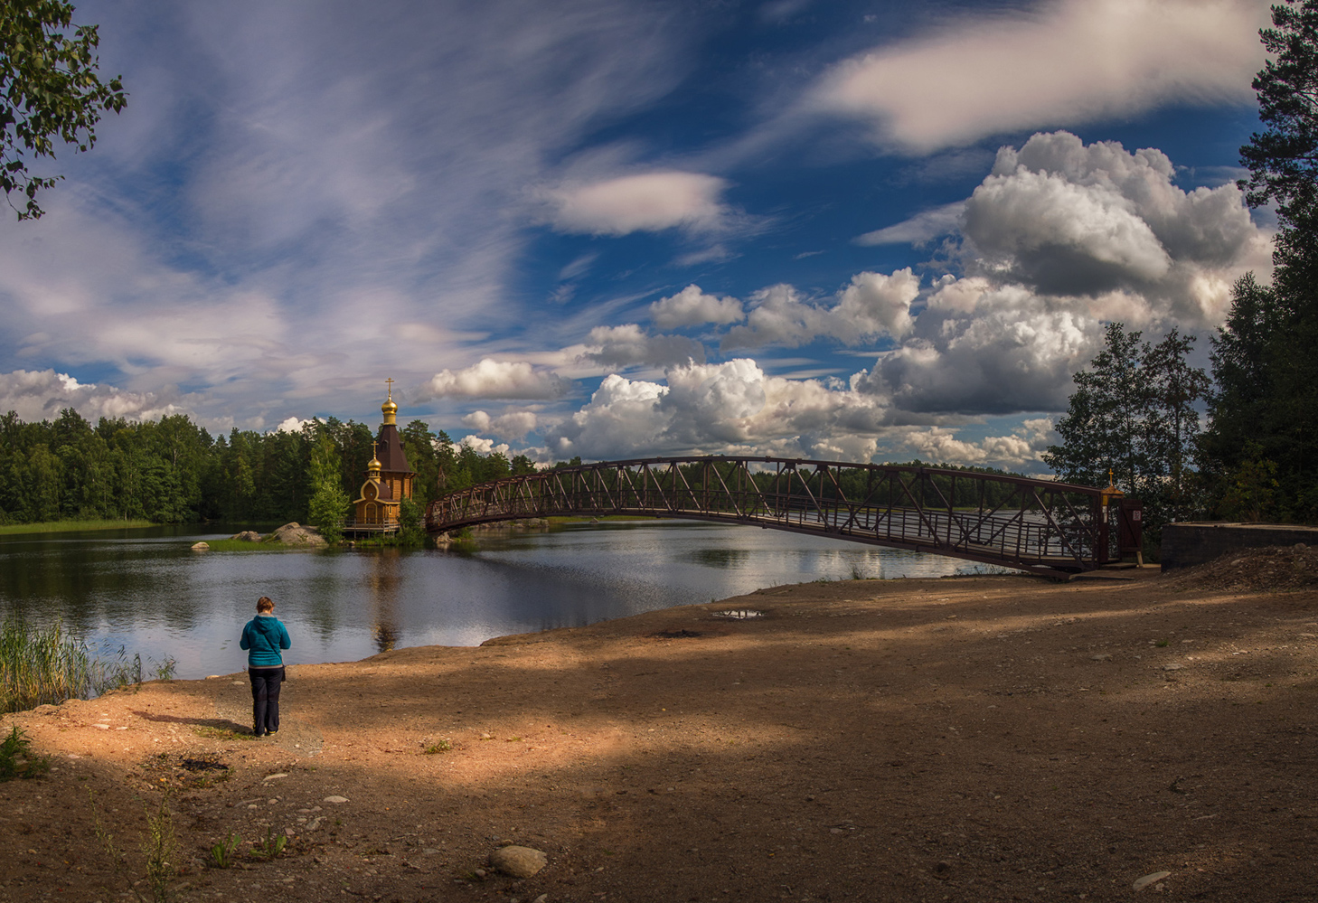
[[(525, 455), (509, 460), (456, 446), (422, 421), (399, 434), (420, 504), (535, 468)], [(94, 424), (71, 407), (30, 423), (9, 411), (0, 417), (0, 523), (307, 521), (327, 480), (356, 497), (374, 440), (365, 423), (332, 417), (295, 432), (235, 428), (212, 436), (183, 414)]]

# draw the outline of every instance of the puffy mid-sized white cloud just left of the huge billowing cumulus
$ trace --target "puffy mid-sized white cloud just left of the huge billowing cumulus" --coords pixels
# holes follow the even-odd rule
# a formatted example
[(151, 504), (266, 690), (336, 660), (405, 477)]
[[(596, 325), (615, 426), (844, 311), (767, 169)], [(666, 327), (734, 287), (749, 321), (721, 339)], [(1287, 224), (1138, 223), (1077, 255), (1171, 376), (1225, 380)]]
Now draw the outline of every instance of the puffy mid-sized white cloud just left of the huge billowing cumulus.
[(920, 294), (920, 277), (911, 268), (890, 276), (857, 273), (829, 306), (805, 299), (789, 285), (762, 289), (750, 297), (745, 326), (728, 331), (724, 348), (795, 348), (817, 337), (857, 344), (879, 335), (900, 337), (912, 326), (911, 302)]

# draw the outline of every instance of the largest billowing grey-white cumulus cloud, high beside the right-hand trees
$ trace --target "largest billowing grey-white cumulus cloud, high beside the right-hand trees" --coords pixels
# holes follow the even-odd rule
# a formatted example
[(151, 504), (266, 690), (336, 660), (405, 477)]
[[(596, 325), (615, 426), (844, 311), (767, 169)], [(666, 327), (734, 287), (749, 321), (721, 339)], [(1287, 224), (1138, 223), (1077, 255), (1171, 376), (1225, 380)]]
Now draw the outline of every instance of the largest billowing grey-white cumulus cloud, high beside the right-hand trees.
[(1140, 295), (1144, 320), (1215, 326), (1234, 278), (1268, 269), (1269, 236), (1234, 185), (1186, 192), (1173, 178), (1160, 150), (1069, 132), (1003, 148), (965, 204), (966, 269), (1049, 295)]

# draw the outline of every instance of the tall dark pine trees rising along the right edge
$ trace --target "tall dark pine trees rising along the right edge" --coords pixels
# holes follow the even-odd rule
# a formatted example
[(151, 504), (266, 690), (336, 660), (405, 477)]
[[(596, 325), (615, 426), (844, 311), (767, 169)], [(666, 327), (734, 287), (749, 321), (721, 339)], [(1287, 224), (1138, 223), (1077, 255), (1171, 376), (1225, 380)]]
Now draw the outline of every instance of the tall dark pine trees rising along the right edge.
[[(1217, 389), (1199, 447), (1218, 517), (1318, 519), (1318, 0), (1272, 8), (1253, 80), (1265, 129), (1240, 149), (1252, 207), (1280, 225), (1273, 281), (1240, 279), (1213, 343)], [(1276, 492), (1248, 490), (1275, 475)], [(1261, 484), (1259, 484), (1261, 485)], [(1242, 502), (1240, 498), (1247, 498)]]

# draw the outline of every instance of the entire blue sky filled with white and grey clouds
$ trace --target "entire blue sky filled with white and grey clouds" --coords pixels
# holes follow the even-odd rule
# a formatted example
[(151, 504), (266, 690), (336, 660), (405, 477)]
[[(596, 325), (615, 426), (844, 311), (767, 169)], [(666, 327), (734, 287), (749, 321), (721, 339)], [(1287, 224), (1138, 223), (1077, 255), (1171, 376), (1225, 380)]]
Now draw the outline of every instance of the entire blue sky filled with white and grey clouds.
[(1271, 276), (1255, 0), (84, 0), (128, 107), (0, 216), (0, 410), (536, 461), (1045, 473), (1122, 322)]

